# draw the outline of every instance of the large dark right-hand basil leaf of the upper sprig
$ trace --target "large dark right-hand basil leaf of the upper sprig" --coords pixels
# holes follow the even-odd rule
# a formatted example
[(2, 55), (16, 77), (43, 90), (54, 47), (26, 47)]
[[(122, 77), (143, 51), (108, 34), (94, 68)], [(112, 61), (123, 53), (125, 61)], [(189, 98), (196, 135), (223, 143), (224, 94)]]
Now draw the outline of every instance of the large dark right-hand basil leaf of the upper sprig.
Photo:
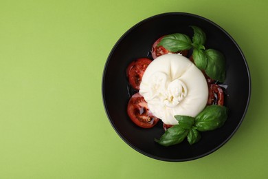
[(205, 73), (210, 78), (224, 82), (225, 81), (225, 58), (221, 52), (213, 49), (205, 50), (208, 64), (205, 68)]

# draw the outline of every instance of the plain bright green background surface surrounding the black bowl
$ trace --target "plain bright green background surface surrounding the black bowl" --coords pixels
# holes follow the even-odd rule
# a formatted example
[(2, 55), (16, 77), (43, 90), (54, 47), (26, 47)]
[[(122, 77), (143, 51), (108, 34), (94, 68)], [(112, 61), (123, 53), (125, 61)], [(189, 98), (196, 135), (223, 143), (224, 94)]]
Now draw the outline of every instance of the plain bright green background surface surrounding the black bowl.
[[(0, 0), (0, 178), (267, 177), (267, 2)], [(252, 75), (236, 134), (189, 162), (139, 154), (115, 133), (102, 105), (111, 48), (133, 25), (163, 12), (219, 24)]]

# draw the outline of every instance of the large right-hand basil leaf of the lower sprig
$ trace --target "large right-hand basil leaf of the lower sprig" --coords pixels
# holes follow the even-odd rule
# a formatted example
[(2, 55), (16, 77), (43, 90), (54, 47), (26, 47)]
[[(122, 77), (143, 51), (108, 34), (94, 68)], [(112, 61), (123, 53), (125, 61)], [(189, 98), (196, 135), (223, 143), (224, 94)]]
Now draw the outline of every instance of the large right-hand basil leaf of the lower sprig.
[(195, 118), (194, 126), (199, 131), (211, 131), (223, 126), (227, 120), (227, 107), (209, 105)]

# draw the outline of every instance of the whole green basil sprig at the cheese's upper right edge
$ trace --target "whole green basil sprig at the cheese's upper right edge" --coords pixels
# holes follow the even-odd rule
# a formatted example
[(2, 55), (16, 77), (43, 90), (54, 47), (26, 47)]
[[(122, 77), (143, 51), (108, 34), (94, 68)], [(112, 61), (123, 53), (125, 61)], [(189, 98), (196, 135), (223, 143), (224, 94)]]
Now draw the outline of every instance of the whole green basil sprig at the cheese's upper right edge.
[(205, 32), (197, 26), (190, 26), (194, 30), (192, 40), (186, 34), (175, 33), (164, 36), (157, 46), (163, 46), (170, 52), (192, 49), (195, 65), (204, 70), (210, 78), (225, 81), (225, 58), (221, 52), (213, 49), (205, 49), (207, 39)]

